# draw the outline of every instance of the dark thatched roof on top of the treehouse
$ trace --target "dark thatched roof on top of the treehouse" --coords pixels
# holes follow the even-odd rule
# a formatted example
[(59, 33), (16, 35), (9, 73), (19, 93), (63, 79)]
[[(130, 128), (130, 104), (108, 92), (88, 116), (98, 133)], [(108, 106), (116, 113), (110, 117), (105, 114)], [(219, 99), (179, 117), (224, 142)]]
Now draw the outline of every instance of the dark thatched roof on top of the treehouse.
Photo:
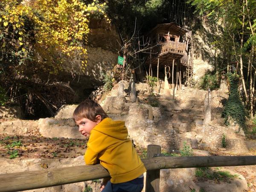
[(188, 31), (178, 26), (176, 22), (172, 22), (172, 23), (158, 24), (153, 29), (151, 29), (150, 32), (148, 32), (148, 35), (157, 34), (157, 33), (167, 34), (168, 32), (170, 32), (170, 34), (172, 35), (185, 35), (186, 32)]

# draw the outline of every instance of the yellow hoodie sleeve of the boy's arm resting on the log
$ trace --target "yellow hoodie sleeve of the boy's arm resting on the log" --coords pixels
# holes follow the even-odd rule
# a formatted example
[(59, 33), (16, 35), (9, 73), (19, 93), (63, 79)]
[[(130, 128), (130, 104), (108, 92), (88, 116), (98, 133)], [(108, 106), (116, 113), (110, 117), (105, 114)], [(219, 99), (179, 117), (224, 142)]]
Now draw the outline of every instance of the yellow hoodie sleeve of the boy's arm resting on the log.
[(98, 163), (98, 154), (103, 151), (106, 146), (102, 144), (105, 140), (106, 135), (99, 131), (91, 131), (90, 139), (87, 143), (87, 150), (84, 154), (84, 161), (86, 165), (93, 165)]

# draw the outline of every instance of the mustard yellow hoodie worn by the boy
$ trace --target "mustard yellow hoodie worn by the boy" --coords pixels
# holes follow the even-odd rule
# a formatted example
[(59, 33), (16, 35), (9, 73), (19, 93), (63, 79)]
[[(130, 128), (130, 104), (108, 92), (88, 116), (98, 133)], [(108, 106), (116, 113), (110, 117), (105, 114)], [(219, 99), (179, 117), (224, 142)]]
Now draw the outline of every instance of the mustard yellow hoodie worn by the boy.
[(108, 170), (111, 183), (133, 180), (146, 169), (140, 160), (124, 121), (103, 119), (90, 132), (84, 160), (87, 165), (99, 163)]

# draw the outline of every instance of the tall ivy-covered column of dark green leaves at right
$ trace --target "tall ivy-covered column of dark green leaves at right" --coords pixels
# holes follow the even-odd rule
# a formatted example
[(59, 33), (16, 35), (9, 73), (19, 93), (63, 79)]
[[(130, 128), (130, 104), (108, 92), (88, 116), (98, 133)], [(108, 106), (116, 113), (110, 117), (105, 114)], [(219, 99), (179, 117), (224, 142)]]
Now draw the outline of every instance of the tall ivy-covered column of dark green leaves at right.
[(229, 125), (230, 120), (233, 120), (239, 125), (240, 128), (243, 128), (244, 132), (246, 133), (245, 116), (247, 113), (238, 92), (239, 76), (236, 74), (227, 73), (227, 77), (230, 84), (230, 95), (227, 99), (226, 105), (224, 106), (222, 117), (225, 118), (226, 125)]

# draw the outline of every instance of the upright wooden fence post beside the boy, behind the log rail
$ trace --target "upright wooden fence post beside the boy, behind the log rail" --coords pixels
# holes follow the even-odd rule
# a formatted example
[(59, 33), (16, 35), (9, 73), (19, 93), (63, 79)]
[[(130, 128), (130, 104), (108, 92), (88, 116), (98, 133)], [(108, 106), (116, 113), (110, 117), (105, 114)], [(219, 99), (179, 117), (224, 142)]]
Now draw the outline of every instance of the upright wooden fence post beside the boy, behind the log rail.
[[(154, 154), (161, 153), (160, 145), (148, 145), (147, 158), (153, 157)], [(147, 171), (145, 192), (159, 192), (160, 169)]]

